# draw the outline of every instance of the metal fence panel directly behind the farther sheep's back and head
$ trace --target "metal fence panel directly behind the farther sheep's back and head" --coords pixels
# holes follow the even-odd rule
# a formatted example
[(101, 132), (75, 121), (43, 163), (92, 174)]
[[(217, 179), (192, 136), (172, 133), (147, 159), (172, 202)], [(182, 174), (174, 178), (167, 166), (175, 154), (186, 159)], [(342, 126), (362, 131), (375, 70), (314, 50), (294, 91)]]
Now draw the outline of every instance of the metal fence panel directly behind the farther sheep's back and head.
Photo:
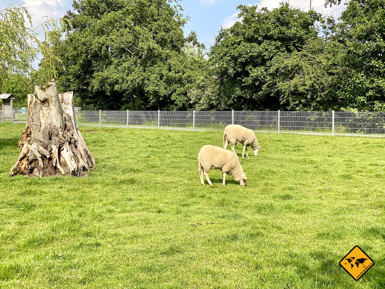
[(234, 124), (254, 131), (278, 131), (278, 111), (234, 111)]

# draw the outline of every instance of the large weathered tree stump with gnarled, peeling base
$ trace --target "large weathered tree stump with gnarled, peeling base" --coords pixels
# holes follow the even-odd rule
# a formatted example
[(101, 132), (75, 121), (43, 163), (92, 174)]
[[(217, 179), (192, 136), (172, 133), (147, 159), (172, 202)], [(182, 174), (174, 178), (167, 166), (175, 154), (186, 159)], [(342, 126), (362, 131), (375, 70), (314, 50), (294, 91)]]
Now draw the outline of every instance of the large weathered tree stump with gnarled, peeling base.
[(54, 79), (28, 94), (28, 121), (9, 176), (83, 176), (95, 165), (75, 121), (73, 92), (58, 94)]

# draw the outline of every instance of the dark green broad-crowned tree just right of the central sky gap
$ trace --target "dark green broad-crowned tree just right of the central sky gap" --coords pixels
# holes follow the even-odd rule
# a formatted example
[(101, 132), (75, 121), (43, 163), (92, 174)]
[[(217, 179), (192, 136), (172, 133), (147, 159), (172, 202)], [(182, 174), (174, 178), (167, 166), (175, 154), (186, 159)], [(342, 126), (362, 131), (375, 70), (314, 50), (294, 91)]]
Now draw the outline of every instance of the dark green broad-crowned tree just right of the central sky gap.
[(218, 80), (222, 109), (278, 109), (279, 90), (271, 90), (276, 57), (300, 52), (318, 38), (314, 27), (321, 15), (281, 3), (269, 11), (239, 5), (236, 22), (222, 28), (211, 48), (210, 62)]

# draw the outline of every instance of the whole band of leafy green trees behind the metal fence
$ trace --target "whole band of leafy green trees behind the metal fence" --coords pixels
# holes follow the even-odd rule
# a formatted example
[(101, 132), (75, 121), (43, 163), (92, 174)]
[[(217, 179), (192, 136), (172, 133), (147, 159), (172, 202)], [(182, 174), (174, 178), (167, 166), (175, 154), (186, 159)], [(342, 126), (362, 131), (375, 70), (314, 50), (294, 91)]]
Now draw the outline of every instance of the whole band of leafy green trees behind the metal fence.
[(82, 109), (384, 111), (384, 7), (346, 1), (335, 20), (288, 3), (240, 5), (240, 21), (208, 49), (195, 32), (184, 37), (178, 0), (75, 0), (35, 46), (25, 46), (34, 34), (22, 37), (23, 11), (9, 8), (0, 13), (0, 91), (25, 99), (55, 76)]

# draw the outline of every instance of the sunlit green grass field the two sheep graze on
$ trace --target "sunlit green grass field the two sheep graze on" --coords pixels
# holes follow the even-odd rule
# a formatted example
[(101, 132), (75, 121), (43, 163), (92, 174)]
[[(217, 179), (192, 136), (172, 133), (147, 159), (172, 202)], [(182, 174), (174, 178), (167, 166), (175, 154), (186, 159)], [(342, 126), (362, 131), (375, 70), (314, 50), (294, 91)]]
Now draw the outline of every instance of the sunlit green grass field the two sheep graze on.
[(257, 134), (246, 187), (202, 187), (221, 132), (80, 127), (88, 177), (8, 178), (24, 126), (0, 124), (0, 288), (385, 287), (384, 139)]

